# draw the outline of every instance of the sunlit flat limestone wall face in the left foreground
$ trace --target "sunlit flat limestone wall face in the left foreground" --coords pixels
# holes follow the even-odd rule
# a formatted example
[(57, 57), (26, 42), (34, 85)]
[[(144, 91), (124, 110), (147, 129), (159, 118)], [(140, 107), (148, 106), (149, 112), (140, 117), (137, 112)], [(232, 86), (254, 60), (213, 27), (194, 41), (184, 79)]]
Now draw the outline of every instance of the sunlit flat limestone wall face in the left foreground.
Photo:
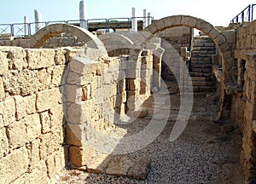
[(0, 48), (0, 183), (46, 183), (67, 163), (65, 49)]

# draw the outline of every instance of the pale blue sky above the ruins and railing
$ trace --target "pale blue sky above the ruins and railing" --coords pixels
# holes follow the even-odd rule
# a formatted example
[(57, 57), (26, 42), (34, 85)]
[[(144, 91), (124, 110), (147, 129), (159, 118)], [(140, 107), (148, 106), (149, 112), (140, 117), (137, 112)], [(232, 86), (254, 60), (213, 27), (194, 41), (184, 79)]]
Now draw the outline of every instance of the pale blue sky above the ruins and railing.
[[(34, 9), (43, 21), (79, 20), (80, 0), (1, 0), (0, 24), (22, 23), (24, 15), (34, 21)], [(214, 26), (228, 26), (230, 20), (255, 0), (87, 0), (88, 19), (131, 17), (131, 8), (143, 16), (147, 9), (154, 19), (175, 14), (188, 14), (207, 20)], [(256, 16), (256, 7), (255, 7)]]

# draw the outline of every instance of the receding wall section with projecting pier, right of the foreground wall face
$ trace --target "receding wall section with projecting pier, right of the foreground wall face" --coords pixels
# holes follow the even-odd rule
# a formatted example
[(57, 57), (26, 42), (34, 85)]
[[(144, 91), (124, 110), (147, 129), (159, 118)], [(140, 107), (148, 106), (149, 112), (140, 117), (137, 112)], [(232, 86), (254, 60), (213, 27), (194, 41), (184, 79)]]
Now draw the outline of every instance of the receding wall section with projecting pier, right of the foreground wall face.
[[(82, 169), (86, 166), (87, 170), (92, 170), (91, 159), (97, 158), (100, 151), (86, 144), (84, 137), (89, 140), (108, 134), (123, 137), (126, 129), (120, 128), (116, 122), (125, 112), (136, 116), (134, 112), (150, 95), (152, 52), (140, 50), (138, 53), (136, 60), (130, 57), (108, 58), (96, 64), (91, 60), (74, 58), (70, 62), (65, 94), (68, 106), (67, 143), (73, 167)], [(108, 145), (108, 139), (102, 141)]]

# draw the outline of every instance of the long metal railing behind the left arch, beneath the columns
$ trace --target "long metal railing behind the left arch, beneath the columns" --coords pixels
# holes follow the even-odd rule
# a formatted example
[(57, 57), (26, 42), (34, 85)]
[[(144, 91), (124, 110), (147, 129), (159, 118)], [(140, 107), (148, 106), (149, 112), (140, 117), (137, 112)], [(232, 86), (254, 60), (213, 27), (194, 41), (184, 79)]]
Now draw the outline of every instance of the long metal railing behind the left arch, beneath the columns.
[[(44, 26), (49, 26), (51, 24), (62, 23), (71, 24), (75, 26), (80, 26), (84, 23), (89, 31), (96, 31), (96, 29), (131, 29), (131, 20), (137, 19), (137, 21), (142, 22), (143, 18), (154, 20), (152, 16), (150, 17), (131, 17), (131, 18), (110, 18), (110, 19), (90, 19), (90, 20), (56, 20), (56, 21), (42, 21), (42, 22), (32, 22), (32, 23), (14, 23), (14, 24), (0, 24), (0, 35), (7, 34), (13, 37), (31, 36), (35, 32)], [(38, 25), (38, 26), (36, 26)], [(138, 24), (138, 26), (141, 24)]]

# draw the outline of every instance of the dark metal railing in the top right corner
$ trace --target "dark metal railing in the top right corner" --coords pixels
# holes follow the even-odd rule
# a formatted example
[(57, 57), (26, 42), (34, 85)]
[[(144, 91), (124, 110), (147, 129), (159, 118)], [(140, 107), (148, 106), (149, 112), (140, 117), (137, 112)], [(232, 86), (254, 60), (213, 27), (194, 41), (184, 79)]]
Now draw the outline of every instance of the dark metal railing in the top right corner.
[(244, 21), (253, 21), (253, 9), (256, 4), (249, 4), (247, 8), (243, 9), (239, 14), (230, 21), (230, 23), (241, 23)]

